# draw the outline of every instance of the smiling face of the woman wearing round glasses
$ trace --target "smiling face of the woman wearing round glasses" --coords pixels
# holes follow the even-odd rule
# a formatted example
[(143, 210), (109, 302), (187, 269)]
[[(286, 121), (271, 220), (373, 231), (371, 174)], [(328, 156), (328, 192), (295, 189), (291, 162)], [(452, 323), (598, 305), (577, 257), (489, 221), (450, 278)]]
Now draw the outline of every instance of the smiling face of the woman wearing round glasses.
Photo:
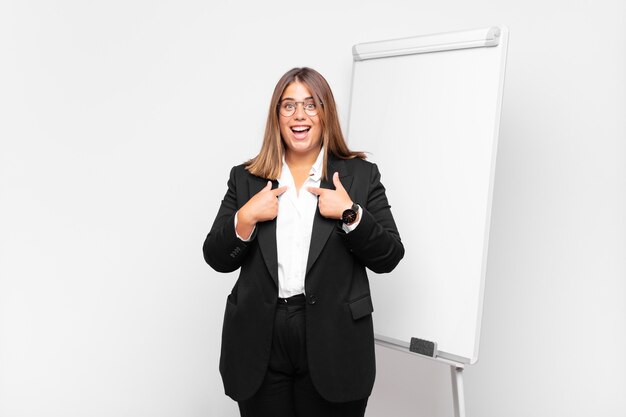
[(310, 116), (305, 111), (306, 103), (313, 102), (313, 95), (304, 84), (296, 81), (287, 86), (280, 105), (285, 101), (298, 103), (293, 115), (283, 116), (281, 112), (278, 113), (280, 133), (286, 154), (317, 157), (322, 137), (319, 109), (315, 116)]

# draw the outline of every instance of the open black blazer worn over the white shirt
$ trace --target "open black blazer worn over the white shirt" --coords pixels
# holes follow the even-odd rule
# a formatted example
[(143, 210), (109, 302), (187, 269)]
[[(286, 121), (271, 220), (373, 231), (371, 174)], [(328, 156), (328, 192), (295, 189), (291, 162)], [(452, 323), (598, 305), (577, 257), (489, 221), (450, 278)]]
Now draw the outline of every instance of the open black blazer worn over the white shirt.
[[(363, 208), (358, 227), (346, 234), (336, 220), (315, 213), (305, 292), (306, 343), (311, 379), (317, 391), (333, 402), (370, 395), (375, 358), (373, 311), (365, 268), (389, 272), (404, 256), (375, 164), (329, 155), (328, 176), (321, 187), (334, 189), (332, 174), (352, 200)], [(243, 165), (230, 172), (222, 200), (203, 247), (204, 259), (216, 271), (241, 268), (227, 297), (220, 373), (226, 394), (237, 401), (254, 395), (269, 361), (278, 297), (276, 220), (262, 222), (250, 242), (235, 234), (235, 212), (259, 192), (267, 180)], [(277, 187), (274, 181), (274, 187)], [(279, 214), (280, 215), (280, 214)]]

